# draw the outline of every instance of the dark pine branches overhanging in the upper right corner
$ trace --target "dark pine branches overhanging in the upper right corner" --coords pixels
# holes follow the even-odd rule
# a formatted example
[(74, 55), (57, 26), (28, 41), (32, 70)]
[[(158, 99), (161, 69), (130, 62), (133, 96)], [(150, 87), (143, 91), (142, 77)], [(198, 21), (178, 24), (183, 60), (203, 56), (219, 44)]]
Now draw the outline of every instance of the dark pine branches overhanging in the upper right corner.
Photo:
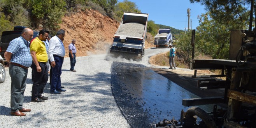
[[(249, 3), (251, 0), (190, 0), (205, 5), (216, 23), (224, 24), (229, 30), (246, 29), (248, 26)], [(255, 1), (255, 0), (254, 0)]]

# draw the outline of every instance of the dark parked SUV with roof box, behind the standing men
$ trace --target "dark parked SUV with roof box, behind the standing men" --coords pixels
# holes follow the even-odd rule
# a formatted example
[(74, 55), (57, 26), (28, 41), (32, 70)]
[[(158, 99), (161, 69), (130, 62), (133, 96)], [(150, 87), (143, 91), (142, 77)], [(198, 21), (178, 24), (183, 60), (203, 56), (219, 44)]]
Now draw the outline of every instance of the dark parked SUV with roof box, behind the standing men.
[[(25, 28), (26, 28), (25, 26), (15, 26), (13, 28), (13, 31), (3, 31), (2, 35), (1, 35), (0, 54), (1, 54), (1, 57), (4, 59), (4, 62), (6, 62), (6, 60), (4, 58), (4, 53), (9, 46), (9, 43), (13, 39), (21, 36), (22, 30)], [(38, 31), (34, 31), (33, 38), (35, 38), (38, 33), (39, 33)]]

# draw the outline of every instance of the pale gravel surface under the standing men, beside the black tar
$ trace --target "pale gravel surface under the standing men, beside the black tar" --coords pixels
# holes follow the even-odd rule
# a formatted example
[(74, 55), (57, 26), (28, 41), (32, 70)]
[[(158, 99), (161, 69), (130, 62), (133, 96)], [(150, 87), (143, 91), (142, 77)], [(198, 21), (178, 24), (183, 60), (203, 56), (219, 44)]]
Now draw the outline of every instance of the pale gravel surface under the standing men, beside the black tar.
[(11, 116), (11, 77), (6, 69), (6, 80), (0, 86), (1, 128), (130, 128), (121, 114), (111, 91), (111, 61), (104, 61), (105, 55), (77, 57), (75, 69), (71, 72), (70, 59), (65, 58), (61, 86), (66, 92), (50, 94), (49, 80), (44, 89), (45, 102), (31, 102), (31, 68), (28, 70), (23, 107), (32, 109), (26, 116)]

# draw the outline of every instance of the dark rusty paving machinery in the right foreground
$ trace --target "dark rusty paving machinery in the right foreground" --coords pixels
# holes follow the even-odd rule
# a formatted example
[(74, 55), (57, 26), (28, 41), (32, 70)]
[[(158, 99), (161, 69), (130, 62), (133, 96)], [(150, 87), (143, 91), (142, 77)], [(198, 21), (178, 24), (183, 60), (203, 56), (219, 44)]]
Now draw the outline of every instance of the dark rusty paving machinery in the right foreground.
[[(156, 124), (162, 128), (256, 128), (256, 28), (252, 30), (254, 0), (251, 0), (249, 30), (232, 30), (230, 37), (229, 60), (192, 59), (190, 69), (195, 70), (194, 78), (198, 88), (223, 88), (223, 97), (202, 97), (183, 99), (183, 106), (215, 104), (212, 112), (199, 107), (181, 111), (179, 120), (164, 119)], [(254, 18), (256, 24), (256, 18)], [(194, 30), (195, 33), (195, 30)], [(192, 35), (192, 43), (195, 34)], [(219, 75), (197, 76), (197, 70), (221, 69)], [(226, 77), (226, 80), (212, 79)], [(202, 121), (197, 122), (199, 117)]]

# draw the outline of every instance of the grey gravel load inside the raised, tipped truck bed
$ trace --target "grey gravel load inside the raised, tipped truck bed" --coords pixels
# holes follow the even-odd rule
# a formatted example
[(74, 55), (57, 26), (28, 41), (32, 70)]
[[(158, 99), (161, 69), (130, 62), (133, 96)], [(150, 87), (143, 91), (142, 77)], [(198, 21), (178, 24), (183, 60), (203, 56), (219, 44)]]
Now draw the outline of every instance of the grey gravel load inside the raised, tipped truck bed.
[(122, 24), (116, 34), (142, 37), (144, 30), (145, 30), (145, 25), (139, 24), (137, 22), (129, 22), (126, 24)]

